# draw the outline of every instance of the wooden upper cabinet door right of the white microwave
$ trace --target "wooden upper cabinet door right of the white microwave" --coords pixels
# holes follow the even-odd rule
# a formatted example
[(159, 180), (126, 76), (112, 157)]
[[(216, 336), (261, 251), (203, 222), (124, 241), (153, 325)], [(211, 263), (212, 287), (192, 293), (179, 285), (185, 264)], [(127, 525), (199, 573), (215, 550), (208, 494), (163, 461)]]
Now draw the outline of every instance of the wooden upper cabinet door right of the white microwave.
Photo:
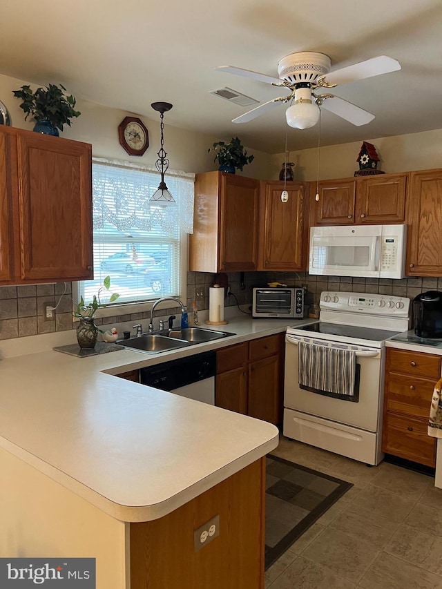
[(407, 275), (442, 276), (442, 169), (410, 174), (407, 218)]

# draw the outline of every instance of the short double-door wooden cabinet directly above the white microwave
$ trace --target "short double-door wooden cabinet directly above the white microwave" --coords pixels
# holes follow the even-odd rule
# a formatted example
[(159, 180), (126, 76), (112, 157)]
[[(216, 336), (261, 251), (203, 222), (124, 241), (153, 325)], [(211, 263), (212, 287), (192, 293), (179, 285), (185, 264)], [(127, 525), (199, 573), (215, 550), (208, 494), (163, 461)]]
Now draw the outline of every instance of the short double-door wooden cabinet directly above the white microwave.
[(405, 222), (407, 174), (383, 174), (311, 182), (311, 225)]

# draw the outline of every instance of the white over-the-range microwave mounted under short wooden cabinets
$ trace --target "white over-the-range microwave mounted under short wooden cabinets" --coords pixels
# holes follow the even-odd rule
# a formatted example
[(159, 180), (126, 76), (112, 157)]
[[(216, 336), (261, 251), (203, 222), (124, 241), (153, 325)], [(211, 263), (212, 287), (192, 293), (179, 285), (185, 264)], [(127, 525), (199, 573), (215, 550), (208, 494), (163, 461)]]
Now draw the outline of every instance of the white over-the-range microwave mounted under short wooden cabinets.
[(406, 244), (406, 225), (311, 227), (309, 273), (403, 278)]

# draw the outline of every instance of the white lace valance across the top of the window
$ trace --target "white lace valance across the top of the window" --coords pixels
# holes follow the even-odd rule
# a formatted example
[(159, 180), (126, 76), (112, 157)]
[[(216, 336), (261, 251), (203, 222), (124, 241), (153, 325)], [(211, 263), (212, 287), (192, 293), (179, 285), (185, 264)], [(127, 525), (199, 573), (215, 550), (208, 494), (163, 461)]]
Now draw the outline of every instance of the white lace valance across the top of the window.
[(94, 157), (93, 228), (111, 224), (119, 231), (151, 232), (160, 226), (165, 235), (175, 234), (178, 227), (193, 233), (195, 174), (167, 171), (164, 180), (177, 206), (151, 204), (160, 179), (154, 166)]

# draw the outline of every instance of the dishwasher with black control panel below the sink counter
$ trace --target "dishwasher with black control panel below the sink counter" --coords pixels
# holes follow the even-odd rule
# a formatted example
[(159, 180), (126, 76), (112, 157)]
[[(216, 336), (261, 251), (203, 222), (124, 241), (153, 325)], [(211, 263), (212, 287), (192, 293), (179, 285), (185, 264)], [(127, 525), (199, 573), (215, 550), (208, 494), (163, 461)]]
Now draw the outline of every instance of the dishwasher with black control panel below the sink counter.
[(140, 369), (142, 385), (215, 405), (216, 352), (187, 356)]

